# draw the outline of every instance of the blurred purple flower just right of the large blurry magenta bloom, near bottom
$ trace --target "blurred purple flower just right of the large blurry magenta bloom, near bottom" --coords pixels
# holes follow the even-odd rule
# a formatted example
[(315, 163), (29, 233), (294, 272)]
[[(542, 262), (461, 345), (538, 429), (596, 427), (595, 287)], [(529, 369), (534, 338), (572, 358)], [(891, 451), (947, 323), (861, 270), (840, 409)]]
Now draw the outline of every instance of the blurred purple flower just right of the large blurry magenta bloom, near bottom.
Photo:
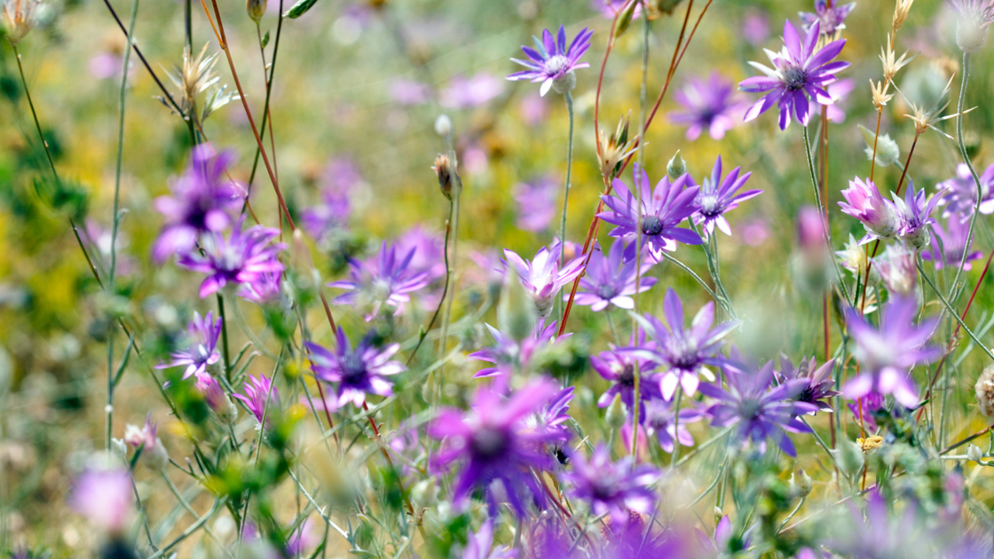
[(589, 503), (594, 515), (609, 514), (612, 524), (623, 525), (628, 511), (652, 511), (656, 495), (649, 485), (659, 478), (656, 468), (636, 465), (630, 456), (612, 463), (604, 445), (598, 445), (589, 460), (575, 453), (571, 463), (573, 469), (565, 475), (573, 484), (570, 494)]

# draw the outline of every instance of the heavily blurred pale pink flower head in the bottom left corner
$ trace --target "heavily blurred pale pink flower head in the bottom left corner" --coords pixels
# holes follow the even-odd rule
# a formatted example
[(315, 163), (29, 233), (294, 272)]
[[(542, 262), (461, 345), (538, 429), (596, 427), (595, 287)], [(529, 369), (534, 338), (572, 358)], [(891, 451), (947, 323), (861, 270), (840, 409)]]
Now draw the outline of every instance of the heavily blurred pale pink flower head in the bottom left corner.
[(123, 468), (87, 469), (76, 478), (69, 504), (89, 522), (114, 536), (127, 530), (134, 512), (131, 475)]

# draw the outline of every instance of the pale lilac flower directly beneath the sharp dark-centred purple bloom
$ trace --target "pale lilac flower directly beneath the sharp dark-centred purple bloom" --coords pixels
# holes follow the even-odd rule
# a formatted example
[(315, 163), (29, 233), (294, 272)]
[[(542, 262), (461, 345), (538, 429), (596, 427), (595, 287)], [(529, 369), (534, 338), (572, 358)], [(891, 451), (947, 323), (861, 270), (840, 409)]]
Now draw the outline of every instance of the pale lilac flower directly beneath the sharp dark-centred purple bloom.
[[(588, 304), (594, 312), (612, 304), (618, 308), (635, 308), (635, 299), (631, 297), (635, 294), (635, 261), (623, 263), (621, 257), (624, 250), (624, 241), (616, 239), (606, 256), (599, 250), (593, 252), (586, 274), (580, 280), (580, 291), (575, 299), (577, 304)], [(648, 259), (642, 262), (643, 277), (638, 280), (640, 293), (656, 284), (655, 278), (644, 277), (652, 264)], [(564, 296), (569, 298), (569, 295)]]

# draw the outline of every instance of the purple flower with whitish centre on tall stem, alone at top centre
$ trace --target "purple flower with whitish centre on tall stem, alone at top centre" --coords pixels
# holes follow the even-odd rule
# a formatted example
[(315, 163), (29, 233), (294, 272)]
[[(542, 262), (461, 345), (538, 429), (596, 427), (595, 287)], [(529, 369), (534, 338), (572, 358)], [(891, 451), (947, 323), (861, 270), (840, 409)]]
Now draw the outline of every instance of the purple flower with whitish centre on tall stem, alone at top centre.
[(574, 38), (570, 48), (566, 46), (566, 28), (560, 26), (559, 35), (553, 40), (553, 34), (546, 29), (542, 32), (542, 41), (535, 39), (535, 49), (522, 47), (528, 56), (528, 61), (511, 59), (528, 70), (507, 77), (508, 80), (530, 80), (532, 83), (542, 82), (539, 93), (545, 96), (555, 86), (556, 93), (569, 93), (577, 85), (575, 70), (589, 68), (590, 65), (581, 63), (583, 53), (590, 48), (590, 37), (593, 32), (585, 27)]

